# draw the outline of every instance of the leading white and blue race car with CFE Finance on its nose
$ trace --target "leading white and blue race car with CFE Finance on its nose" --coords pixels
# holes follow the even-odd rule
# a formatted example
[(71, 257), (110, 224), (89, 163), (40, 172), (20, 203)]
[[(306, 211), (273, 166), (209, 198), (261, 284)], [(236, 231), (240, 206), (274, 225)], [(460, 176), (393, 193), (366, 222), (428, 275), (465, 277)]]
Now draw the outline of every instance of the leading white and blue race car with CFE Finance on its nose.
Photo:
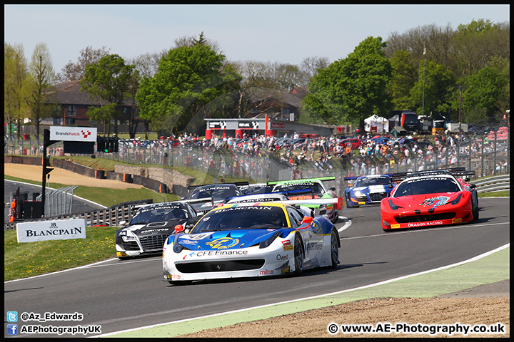
[(163, 281), (301, 274), (335, 268), (341, 242), (326, 217), (281, 202), (225, 204), (192, 229), (181, 225), (163, 247)]

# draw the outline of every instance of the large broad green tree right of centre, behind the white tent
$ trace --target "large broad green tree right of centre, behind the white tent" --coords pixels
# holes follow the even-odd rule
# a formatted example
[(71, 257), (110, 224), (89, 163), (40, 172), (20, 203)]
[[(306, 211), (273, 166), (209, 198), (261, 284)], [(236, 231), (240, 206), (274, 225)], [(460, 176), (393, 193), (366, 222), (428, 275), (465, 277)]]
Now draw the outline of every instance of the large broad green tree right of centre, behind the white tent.
[(358, 123), (361, 129), (365, 118), (388, 115), (392, 103), (386, 88), (393, 68), (383, 48), (381, 37), (368, 37), (347, 58), (314, 76), (311, 95), (303, 100), (309, 115), (328, 123)]

